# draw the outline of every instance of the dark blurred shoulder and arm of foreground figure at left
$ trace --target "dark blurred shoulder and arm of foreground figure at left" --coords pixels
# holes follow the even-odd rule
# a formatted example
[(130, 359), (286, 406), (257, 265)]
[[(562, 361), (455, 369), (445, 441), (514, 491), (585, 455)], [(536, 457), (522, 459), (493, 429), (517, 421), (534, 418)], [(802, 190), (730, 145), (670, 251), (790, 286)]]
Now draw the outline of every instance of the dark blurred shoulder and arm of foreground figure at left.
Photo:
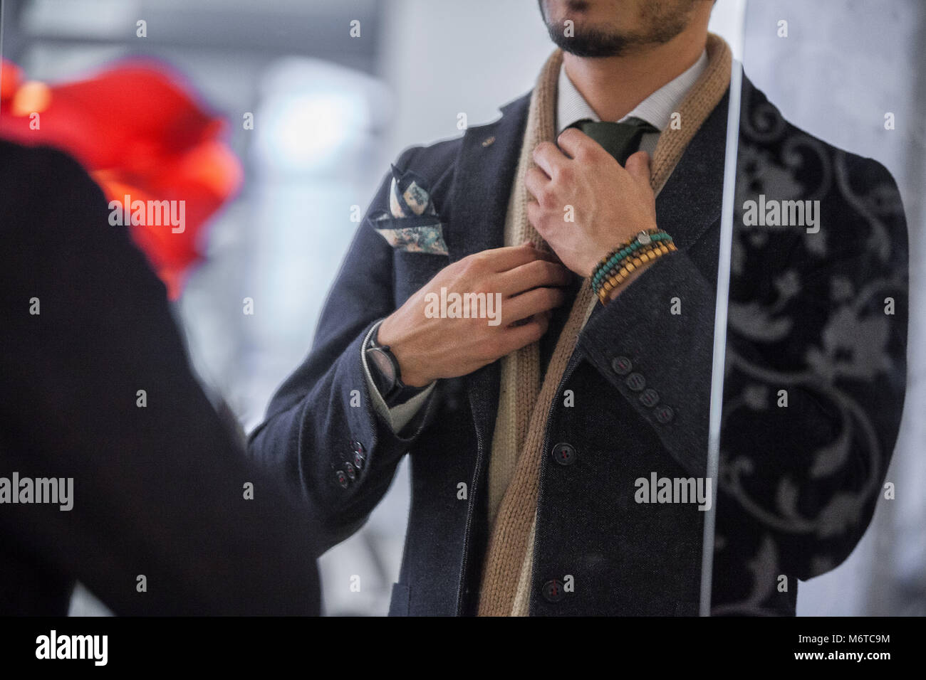
[(77, 579), (117, 614), (318, 614), (306, 510), (246, 463), (99, 188), (0, 142), (0, 230), (0, 477), (73, 478), (71, 510), (0, 502), (0, 613), (66, 614)]

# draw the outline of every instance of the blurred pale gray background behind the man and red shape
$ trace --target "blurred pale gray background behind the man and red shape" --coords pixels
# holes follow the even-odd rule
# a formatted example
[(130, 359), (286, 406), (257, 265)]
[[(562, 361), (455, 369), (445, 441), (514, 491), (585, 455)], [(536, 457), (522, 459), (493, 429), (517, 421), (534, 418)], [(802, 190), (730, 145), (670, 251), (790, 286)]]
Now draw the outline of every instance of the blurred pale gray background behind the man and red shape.
[[(926, 463), (922, 451), (923, 159), (926, 56), (921, 0), (720, 0), (712, 28), (797, 126), (874, 157), (894, 174), (911, 246), (910, 374), (901, 439), (866, 538), (829, 575), (802, 584), (799, 614), (924, 613)], [(206, 261), (180, 303), (206, 386), (245, 429), (307, 353), (321, 304), (391, 160), (456, 136), (532, 87), (551, 51), (535, 0), (4, 0), (3, 56), (37, 80), (73, 80), (124, 56), (179, 70), (229, 120), (242, 192), (202, 242)], [(145, 19), (148, 37), (135, 37)], [(360, 21), (360, 37), (349, 36)], [(777, 36), (778, 21), (789, 37)], [(895, 112), (887, 136), (883, 113)], [(243, 130), (245, 112), (255, 130)], [(242, 300), (255, 315), (242, 314)], [(920, 414), (914, 418), (913, 414)], [(407, 466), (353, 538), (321, 558), (329, 614), (383, 614), (398, 575)], [(361, 576), (351, 592), (351, 575)], [(79, 591), (74, 614), (105, 613)]]

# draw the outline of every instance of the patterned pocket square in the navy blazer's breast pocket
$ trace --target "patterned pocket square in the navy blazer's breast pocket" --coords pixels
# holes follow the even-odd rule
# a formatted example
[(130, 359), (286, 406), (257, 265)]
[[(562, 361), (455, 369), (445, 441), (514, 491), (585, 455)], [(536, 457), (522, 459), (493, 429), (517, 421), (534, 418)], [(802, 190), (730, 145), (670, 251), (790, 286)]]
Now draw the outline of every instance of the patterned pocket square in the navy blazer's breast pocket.
[(409, 253), (447, 254), (444, 225), (434, 209), (427, 185), (414, 172), (392, 166), (389, 211), (376, 210), (368, 220), (393, 248)]

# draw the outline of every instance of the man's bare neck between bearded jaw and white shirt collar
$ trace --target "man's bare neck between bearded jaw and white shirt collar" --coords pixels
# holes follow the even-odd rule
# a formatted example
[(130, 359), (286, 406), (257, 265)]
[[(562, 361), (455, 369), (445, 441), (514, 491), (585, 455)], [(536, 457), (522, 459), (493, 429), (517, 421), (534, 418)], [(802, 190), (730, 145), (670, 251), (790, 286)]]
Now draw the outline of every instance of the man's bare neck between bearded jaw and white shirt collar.
[[(694, 28), (694, 27), (693, 27)], [(563, 55), (566, 75), (602, 120), (619, 120), (650, 94), (694, 66), (707, 30), (682, 31), (669, 43), (626, 56)]]

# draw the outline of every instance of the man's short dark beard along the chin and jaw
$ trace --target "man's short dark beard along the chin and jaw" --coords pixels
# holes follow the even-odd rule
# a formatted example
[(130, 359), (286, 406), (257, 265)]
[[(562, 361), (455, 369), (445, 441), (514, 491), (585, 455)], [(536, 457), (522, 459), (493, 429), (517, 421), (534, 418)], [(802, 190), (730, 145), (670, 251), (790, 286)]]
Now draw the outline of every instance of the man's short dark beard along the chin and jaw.
[[(543, 0), (539, 0), (539, 4), (550, 40), (556, 43), (563, 52), (569, 52), (575, 56), (625, 56), (638, 52), (646, 45), (668, 43), (684, 31), (688, 24), (690, 10), (694, 6), (694, 0), (690, 0), (689, 3), (680, 3), (683, 8), (681, 12), (666, 11), (664, 5), (654, 3), (650, 10), (650, 25), (645, 32), (621, 33), (602, 31), (592, 27), (581, 28), (577, 25), (573, 28), (574, 34), (571, 37), (566, 36), (566, 27), (562, 23), (552, 23), (547, 19)], [(677, 10), (678, 7), (675, 9)]]

